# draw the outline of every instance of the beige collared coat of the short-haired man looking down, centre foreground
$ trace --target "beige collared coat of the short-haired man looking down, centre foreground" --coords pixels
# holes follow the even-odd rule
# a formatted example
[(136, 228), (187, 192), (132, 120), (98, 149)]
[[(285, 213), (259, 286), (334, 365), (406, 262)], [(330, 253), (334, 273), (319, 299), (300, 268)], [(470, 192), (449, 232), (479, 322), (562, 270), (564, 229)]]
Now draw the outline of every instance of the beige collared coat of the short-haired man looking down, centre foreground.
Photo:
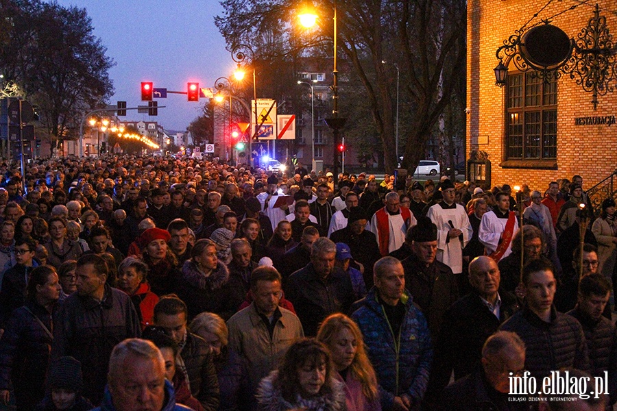
[(289, 346), (304, 337), (298, 317), (285, 308), (279, 310), (282, 316), (276, 322), (272, 338), (254, 302), (227, 321), (229, 349), (238, 353), (247, 367), (251, 394), (261, 379), (278, 367)]

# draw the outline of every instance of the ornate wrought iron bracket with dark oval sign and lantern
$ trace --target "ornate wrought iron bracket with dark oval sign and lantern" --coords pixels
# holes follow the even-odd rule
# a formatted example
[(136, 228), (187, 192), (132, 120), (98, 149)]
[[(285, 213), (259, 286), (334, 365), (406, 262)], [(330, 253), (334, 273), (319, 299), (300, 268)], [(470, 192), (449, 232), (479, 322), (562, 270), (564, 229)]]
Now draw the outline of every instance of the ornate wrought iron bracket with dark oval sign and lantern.
[(568, 38), (550, 19), (525, 29), (516, 30), (496, 51), (499, 64), (494, 69), (495, 84), (507, 84), (510, 62), (520, 71), (549, 81), (569, 75), (585, 92), (591, 92), (594, 110), (598, 95), (613, 92), (617, 81), (617, 49), (613, 36), (596, 4), (592, 18), (576, 38)]

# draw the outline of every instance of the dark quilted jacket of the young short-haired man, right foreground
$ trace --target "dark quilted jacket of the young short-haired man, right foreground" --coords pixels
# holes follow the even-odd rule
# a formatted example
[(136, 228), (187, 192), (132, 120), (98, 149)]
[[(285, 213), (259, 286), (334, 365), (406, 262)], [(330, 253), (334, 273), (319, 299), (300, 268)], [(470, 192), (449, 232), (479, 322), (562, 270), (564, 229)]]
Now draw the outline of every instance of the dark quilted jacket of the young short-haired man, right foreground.
[(499, 329), (516, 332), (525, 343), (525, 369), (542, 378), (551, 371), (574, 367), (590, 371), (587, 344), (581, 324), (551, 309), (551, 322), (542, 321), (529, 307), (516, 312)]

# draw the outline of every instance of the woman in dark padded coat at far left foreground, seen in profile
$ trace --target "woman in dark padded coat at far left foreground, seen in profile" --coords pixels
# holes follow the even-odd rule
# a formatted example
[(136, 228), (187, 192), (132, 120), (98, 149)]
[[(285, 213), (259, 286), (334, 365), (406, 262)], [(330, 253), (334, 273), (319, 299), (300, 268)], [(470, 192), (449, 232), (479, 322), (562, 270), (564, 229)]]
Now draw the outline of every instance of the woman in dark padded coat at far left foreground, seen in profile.
[(45, 374), (53, 340), (53, 313), (60, 298), (56, 270), (32, 270), (24, 306), (14, 310), (0, 340), (0, 401), (8, 405), (12, 384), (17, 410), (33, 410), (45, 397)]

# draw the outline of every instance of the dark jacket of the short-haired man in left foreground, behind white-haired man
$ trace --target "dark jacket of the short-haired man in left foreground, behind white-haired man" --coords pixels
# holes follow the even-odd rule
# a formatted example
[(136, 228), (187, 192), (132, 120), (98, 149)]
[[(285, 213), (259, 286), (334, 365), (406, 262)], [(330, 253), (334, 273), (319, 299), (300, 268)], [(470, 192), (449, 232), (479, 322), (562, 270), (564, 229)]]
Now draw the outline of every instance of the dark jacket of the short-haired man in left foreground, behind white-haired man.
[(100, 302), (74, 292), (64, 300), (54, 325), (51, 360), (62, 356), (79, 360), (84, 373), (83, 395), (99, 403), (112, 349), (126, 338), (141, 336), (130, 297), (108, 285)]

